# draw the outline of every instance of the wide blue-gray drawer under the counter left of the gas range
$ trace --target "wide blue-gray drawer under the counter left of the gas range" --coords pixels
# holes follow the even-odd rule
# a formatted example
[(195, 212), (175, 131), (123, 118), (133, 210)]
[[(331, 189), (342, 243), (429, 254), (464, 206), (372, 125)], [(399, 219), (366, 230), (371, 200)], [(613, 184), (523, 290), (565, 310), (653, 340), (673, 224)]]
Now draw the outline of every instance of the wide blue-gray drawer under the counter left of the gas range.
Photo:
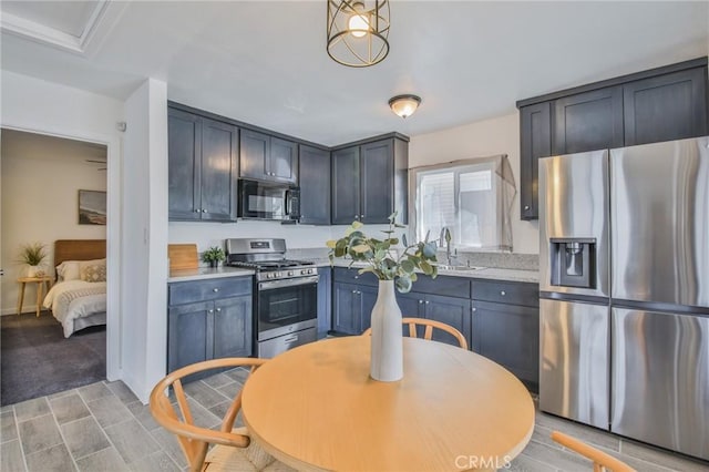
[(167, 288), (167, 304), (173, 306), (239, 295), (251, 295), (250, 277), (172, 283)]

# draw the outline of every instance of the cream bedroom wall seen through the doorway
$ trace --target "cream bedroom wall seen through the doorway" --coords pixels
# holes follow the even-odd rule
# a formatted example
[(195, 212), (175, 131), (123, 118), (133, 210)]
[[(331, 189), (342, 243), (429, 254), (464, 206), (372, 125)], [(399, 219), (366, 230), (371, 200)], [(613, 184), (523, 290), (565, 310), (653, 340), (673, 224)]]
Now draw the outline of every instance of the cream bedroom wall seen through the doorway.
[[(0, 153), (2, 173), (2, 315), (14, 314), (18, 277), (27, 266), (17, 263), (22, 245), (40, 242), (53, 275), (54, 240), (103, 239), (106, 227), (80, 225), (78, 191), (106, 189), (106, 172), (85, 160), (105, 158), (106, 150), (60, 138), (6, 131)], [(28, 286), (23, 311), (34, 311), (34, 285)]]

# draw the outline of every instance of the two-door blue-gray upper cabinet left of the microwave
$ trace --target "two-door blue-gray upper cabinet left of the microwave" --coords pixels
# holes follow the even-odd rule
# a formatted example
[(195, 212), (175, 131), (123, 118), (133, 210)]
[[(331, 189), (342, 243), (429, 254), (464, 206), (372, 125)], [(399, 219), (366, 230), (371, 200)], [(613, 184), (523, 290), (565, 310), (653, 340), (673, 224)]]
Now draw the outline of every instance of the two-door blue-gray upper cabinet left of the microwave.
[(235, 222), (238, 129), (167, 109), (168, 217)]

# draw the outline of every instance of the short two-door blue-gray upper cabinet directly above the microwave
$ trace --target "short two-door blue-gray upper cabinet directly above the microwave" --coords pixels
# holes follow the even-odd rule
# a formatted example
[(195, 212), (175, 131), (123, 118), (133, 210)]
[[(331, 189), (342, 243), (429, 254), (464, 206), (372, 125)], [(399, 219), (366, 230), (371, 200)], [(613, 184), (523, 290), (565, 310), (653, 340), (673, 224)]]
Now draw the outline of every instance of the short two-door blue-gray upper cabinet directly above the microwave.
[(298, 145), (292, 141), (242, 129), (240, 176), (298, 183)]

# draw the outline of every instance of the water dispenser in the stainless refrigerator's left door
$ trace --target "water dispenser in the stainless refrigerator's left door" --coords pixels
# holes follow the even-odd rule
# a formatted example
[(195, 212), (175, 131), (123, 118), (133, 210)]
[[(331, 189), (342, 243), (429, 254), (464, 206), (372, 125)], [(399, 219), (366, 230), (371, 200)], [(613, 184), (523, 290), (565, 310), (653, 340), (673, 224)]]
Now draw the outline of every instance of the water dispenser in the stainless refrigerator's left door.
[(551, 238), (552, 285), (595, 288), (596, 239)]

